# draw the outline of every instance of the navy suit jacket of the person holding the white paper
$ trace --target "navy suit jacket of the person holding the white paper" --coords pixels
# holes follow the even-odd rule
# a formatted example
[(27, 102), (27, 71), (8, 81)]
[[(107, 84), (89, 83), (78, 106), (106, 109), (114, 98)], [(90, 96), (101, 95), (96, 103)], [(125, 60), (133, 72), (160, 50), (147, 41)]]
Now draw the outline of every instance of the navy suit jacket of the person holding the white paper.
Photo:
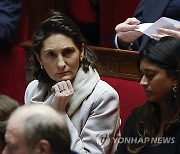
[[(172, 11), (175, 12), (171, 12), (171, 9), (168, 10), (171, 6), (176, 7), (176, 10), (172, 9)], [(179, 0), (141, 0), (134, 13), (134, 17), (140, 20), (141, 23), (153, 23), (163, 16), (174, 19), (172, 15), (177, 14), (178, 12), (180, 13)], [(180, 20), (179, 15), (176, 20)], [(134, 42), (132, 49), (142, 51), (149, 42), (151, 42), (151, 39), (148, 36), (143, 35)]]

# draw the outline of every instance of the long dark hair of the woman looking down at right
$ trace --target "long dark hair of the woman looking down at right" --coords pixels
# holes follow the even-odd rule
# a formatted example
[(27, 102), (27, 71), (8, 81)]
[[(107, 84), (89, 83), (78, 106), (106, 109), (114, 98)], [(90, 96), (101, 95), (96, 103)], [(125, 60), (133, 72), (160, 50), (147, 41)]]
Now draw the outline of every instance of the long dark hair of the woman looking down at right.
[[(151, 63), (166, 70), (167, 75), (174, 76), (178, 82), (180, 80), (179, 65), (180, 65), (180, 40), (173, 37), (164, 37), (158, 42), (154, 42), (138, 55), (138, 67), (142, 59), (147, 59)], [(179, 89), (179, 84), (177, 88)], [(171, 121), (165, 126), (163, 134), (166, 135), (168, 129), (174, 124), (180, 123), (180, 99), (179, 90), (175, 94), (172, 92), (170, 96), (173, 116)], [(160, 129), (160, 108), (157, 102), (146, 101), (142, 106), (133, 111), (136, 116), (136, 125), (134, 131), (139, 137), (155, 137)], [(128, 151), (139, 153), (147, 144), (128, 145)]]

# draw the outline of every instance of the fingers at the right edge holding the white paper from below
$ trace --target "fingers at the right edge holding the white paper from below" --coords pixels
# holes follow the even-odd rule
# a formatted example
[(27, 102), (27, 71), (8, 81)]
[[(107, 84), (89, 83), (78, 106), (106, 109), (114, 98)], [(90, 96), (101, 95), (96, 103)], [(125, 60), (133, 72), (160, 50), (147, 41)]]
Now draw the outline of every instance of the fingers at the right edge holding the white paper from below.
[(166, 29), (166, 28), (158, 28), (157, 29), (158, 34), (152, 34), (151, 38), (159, 40), (160, 38), (165, 37), (165, 36), (172, 36), (172, 37), (180, 39), (180, 25), (175, 25), (174, 27), (175, 27), (175, 30)]

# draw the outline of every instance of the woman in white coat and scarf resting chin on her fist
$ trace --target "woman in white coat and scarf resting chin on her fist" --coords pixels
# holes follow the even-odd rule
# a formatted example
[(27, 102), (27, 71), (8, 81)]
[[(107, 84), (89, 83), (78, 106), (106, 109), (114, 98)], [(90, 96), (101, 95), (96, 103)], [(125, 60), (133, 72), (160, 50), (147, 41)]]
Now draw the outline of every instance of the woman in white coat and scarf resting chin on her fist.
[(64, 114), (72, 150), (112, 152), (119, 97), (100, 80), (95, 56), (74, 22), (54, 12), (35, 30), (32, 54), (36, 80), (26, 89), (25, 103), (49, 104)]

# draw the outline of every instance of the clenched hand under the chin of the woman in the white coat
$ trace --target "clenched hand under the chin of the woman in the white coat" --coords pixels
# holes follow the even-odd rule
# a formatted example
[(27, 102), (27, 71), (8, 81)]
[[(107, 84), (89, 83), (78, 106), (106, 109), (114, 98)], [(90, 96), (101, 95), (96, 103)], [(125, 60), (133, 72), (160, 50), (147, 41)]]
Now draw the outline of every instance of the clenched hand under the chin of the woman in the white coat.
[(61, 114), (66, 114), (66, 106), (74, 94), (71, 82), (69, 80), (58, 82), (52, 86), (52, 91), (55, 95), (51, 106)]

